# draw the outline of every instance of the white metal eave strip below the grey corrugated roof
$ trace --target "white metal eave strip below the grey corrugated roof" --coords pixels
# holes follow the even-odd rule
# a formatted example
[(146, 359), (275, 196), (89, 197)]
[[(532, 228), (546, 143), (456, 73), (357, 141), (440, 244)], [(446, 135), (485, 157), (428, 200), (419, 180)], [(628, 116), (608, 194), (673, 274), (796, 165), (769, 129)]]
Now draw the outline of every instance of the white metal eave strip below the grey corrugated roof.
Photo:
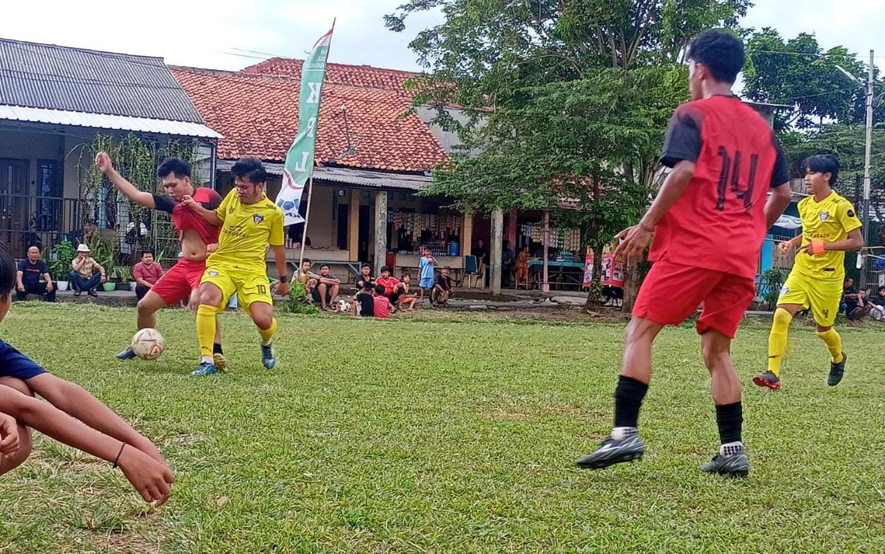
[(107, 115), (104, 113), (65, 112), (63, 110), (0, 105), (0, 119), (96, 129), (139, 131), (142, 133), (155, 133), (157, 135), (224, 138), (202, 123), (170, 121), (168, 119), (132, 118), (125, 115)]

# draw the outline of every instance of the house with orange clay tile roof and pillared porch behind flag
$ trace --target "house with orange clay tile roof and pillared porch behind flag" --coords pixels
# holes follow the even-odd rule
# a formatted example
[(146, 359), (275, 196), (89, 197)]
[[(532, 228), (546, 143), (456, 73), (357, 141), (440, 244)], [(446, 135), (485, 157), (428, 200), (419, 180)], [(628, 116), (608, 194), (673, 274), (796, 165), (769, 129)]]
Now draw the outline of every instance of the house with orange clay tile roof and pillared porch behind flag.
[[(171, 66), (218, 143), (219, 190), (232, 186), (229, 168), (257, 156), (281, 187), (282, 165), (296, 135), (302, 60), (273, 58), (239, 72)], [(328, 64), (317, 126), (307, 258), (358, 270), (416, 267), (421, 246), (463, 268), (459, 244), (470, 242), (472, 219), (443, 198), (418, 196), (430, 172), (449, 159), (442, 135), (413, 112), (405, 81), (412, 73), (366, 65)], [(305, 189), (306, 199), (306, 189)], [(301, 203), (304, 212), (308, 202)], [(466, 223), (466, 224), (465, 224)], [(297, 259), (302, 225), (288, 228)], [(451, 256), (448, 256), (451, 254)], [(343, 273), (343, 272), (342, 272)], [(341, 276), (341, 275), (339, 275)]]

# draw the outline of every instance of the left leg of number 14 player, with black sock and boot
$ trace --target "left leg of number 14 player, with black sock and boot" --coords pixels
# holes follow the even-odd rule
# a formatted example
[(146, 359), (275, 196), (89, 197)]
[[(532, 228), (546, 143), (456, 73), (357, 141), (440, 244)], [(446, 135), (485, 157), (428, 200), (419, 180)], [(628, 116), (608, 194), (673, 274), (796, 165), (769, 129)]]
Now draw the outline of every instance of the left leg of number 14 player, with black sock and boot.
[(651, 345), (664, 326), (650, 319), (630, 320), (624, 339), (624, 359), (614, 392), (614, 428), (595, 452), (578, 460), (583, 469), (602, 469), (642, 458), (639, 409), (651, 380)]

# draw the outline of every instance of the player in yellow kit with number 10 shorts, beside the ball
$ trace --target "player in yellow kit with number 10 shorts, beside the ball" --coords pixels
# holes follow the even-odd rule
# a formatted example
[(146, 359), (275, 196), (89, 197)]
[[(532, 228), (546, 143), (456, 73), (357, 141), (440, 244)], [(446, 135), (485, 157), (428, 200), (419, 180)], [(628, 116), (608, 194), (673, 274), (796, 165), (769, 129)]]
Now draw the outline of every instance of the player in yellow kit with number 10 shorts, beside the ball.
[(183, 203), (203, 219), (221, 227), (219, 247), (206, 260), (206, 272), (200, 281), (200, 307), (196, 311), (196, 335), (200, 340), (199, 367), (195, 377), (212, 375), (218, 370), (212, 362), (212, 339), (215, 314), (234, 293), (242, 308), (250, 313), (261, 335), (261, 362), (267, 369), (276, 366), (273, 335), (273, 297), (267, 279), (267, 245), (273, 248), (280, 275), (278, 294), (289, 294), (286, 250), (283, 248), (283, 213), (265, 196), (267, 173), (258, 158), (242, 158), (231, 167), (235, 189), (227, 194), (218, 209), (207, 210), (191, 198)]

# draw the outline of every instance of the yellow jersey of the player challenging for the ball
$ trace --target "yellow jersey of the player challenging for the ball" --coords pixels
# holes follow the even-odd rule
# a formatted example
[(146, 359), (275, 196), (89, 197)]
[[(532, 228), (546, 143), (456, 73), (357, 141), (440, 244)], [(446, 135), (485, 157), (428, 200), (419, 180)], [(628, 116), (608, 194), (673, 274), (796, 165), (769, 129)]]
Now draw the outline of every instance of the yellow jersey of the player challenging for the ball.
[(267, 245), (282, 246), (282, 210), (265, 197), (256, 204), (242, 204), (236, 189), (227, 193), (215, 210), (223, 221), (219, 250), (207, 264), (237, 265), (266, 271)]

